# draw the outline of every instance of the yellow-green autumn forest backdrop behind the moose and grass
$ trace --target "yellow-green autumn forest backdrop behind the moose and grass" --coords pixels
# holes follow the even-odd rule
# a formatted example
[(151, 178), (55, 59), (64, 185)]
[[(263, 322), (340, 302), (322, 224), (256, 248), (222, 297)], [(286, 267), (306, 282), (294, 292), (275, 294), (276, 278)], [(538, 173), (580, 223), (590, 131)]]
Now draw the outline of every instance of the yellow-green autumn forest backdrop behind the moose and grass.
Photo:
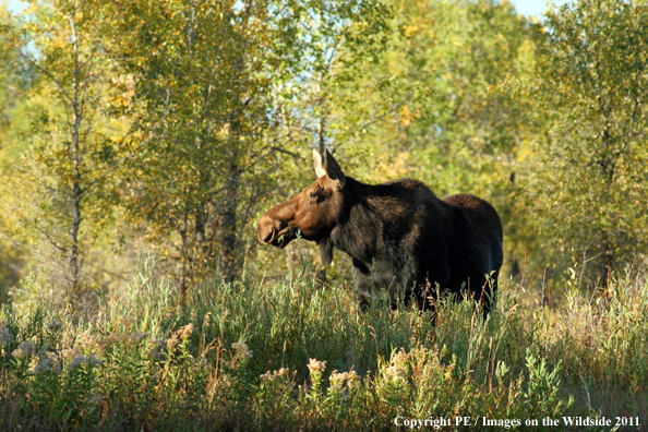
[(92, 310), (147, 257), (179, 293), (317, 265), (255, 223), (324, 146), (361, 181), (490, 201), (504, 274), (549, 301), (576, 266), (603, 292), (647, 264), (647, 29), (617, 0), (0, 7), (0, 302)]

